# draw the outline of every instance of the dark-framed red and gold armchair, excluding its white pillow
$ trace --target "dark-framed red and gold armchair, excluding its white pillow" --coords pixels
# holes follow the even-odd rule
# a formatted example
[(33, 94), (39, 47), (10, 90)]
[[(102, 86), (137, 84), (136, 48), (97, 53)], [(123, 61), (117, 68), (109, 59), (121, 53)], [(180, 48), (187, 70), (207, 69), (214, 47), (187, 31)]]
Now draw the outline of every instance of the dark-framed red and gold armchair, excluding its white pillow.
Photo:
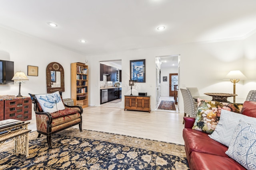
[(64, 104), (64, 110), (49, 113), (43, 111), (35, 94), (29, 93), (29, 95), (34, 104), (34, 111), (36, 113), (36, 128), (39, 133), (38, 137), (40, 137), (41, 134), (46, 135), (49, 148), (52, 147), (51, 136), (54, 133), (78, 124), (79, 129), (82, 132), (83, 109), (81, 106), (68, 106)]

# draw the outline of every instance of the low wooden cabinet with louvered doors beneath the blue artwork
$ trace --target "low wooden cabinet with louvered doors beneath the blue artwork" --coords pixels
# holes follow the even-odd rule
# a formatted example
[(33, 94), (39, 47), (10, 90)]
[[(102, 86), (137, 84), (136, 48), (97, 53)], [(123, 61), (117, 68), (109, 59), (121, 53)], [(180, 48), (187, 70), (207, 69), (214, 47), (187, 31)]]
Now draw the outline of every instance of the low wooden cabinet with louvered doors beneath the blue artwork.
[(124, 110), (151, 111), (151, 96), (124, 96)]

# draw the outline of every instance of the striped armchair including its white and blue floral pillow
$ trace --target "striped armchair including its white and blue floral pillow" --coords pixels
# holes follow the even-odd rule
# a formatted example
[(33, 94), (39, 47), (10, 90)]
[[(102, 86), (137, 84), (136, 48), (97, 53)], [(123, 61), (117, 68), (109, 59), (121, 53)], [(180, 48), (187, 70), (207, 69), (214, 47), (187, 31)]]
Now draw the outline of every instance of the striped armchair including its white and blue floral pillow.
[(59, 92), (29, 95), (36, 113), (38, 137), (41, 134), (46, 135), (49, 148), (52, 147), (51, 136), (54, 133), (78, 124), (82, 132), (83, 109), (81, 106), (65, 105)]

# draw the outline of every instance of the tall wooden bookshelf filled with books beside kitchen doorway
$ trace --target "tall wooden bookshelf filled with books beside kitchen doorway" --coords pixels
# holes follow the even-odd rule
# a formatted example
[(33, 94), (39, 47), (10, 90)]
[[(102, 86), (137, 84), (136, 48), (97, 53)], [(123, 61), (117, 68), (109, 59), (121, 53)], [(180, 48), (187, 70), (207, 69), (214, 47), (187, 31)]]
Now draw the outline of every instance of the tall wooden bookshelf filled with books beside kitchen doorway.
[(88, 107), (88, 66), (83, 63), (71, 63), (71, 98), (74, 105)]

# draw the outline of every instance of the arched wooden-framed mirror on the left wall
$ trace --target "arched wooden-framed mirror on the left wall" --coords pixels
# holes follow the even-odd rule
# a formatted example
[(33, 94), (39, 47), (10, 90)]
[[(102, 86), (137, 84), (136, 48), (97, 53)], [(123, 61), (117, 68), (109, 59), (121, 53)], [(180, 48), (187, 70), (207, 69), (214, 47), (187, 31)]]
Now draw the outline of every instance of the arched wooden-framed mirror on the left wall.
[(52, 62), (46, 68), (47, 93), (64, 92), (64, 69), (61, 64)]

